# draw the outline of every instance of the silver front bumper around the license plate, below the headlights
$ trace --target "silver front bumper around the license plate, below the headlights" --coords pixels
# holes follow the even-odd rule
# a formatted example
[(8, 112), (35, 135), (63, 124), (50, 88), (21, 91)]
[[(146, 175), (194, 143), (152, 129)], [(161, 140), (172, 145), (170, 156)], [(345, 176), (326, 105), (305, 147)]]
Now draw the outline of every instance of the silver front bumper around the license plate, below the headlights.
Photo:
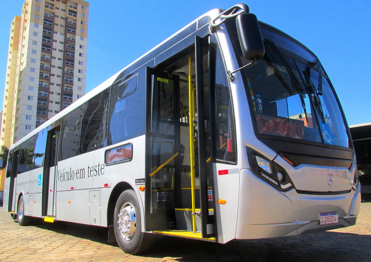
[[(357, 191), (341, 195), (280, 192), (256, 177), (250, 169), (240, 171), (236, 239), (296, 236), (353, 226), (361, 203)], [(319, 224), (319, 214), (338, 212), (338, 223)]]

